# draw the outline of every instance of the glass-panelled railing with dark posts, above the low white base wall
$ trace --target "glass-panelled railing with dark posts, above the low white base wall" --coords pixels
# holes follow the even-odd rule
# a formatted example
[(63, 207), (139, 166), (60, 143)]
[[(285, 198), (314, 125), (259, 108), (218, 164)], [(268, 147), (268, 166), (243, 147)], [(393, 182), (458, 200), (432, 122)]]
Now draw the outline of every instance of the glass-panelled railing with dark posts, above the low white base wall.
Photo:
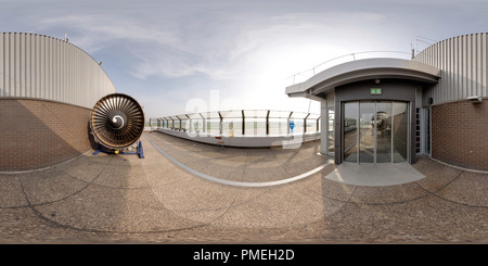
[(233, 110), (150, 118), (151, 129), (209, 136), (257, 137), (320, 132), (320, 115), (312, 113)]

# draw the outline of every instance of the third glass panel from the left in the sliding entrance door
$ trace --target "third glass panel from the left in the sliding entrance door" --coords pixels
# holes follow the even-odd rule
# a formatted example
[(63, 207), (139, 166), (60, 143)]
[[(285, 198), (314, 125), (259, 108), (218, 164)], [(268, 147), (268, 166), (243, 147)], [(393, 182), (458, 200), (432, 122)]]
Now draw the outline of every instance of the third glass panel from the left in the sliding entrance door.
[(376, 103), (376, 163), (391, 163), (391, 102)]

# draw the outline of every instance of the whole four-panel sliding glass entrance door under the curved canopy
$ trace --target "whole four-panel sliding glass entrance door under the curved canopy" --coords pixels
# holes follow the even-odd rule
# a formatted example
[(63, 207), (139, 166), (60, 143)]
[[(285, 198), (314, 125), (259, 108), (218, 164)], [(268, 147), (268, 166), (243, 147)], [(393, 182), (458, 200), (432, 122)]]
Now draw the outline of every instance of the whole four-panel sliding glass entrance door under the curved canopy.
[(408, 161), (407, 102), (346, 102), (343, 114), (345, 162), (375, 164)]

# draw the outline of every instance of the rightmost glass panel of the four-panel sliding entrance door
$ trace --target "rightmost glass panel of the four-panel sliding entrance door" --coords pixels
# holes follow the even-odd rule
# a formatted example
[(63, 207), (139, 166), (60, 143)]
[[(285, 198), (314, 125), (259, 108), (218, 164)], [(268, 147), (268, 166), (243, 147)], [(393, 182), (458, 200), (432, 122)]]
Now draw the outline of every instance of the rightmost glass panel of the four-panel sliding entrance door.
[(408, 148), (408, 105), (406, 102), (394, 102), (394, 163), (407, 162)]

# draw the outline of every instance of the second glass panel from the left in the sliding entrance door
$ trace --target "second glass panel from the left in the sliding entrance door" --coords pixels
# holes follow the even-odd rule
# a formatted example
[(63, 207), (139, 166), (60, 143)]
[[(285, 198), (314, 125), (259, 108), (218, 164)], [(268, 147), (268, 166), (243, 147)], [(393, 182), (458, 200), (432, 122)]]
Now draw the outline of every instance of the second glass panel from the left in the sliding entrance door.
[(374, 163), (374, 102), (359, 103), (359, 162)]

